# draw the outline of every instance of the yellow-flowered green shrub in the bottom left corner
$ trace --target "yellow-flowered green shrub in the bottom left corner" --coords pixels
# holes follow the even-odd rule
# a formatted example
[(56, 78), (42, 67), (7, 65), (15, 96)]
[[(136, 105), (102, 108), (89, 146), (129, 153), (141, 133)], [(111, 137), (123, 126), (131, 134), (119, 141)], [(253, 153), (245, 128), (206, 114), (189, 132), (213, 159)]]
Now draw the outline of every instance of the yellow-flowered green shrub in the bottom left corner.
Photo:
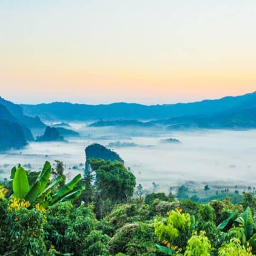
[(13, 199), (0, 198), (0, 254), (45, 255), (45, 214)]

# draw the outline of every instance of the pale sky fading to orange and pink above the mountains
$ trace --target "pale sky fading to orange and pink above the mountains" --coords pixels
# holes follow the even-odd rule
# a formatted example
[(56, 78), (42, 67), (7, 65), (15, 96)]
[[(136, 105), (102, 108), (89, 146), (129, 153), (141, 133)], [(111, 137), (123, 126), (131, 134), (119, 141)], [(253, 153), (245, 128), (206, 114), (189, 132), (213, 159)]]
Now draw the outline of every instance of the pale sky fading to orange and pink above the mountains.
[(191, 102), (256, 91), (255, 0), (1, 0), (0, 96)]

